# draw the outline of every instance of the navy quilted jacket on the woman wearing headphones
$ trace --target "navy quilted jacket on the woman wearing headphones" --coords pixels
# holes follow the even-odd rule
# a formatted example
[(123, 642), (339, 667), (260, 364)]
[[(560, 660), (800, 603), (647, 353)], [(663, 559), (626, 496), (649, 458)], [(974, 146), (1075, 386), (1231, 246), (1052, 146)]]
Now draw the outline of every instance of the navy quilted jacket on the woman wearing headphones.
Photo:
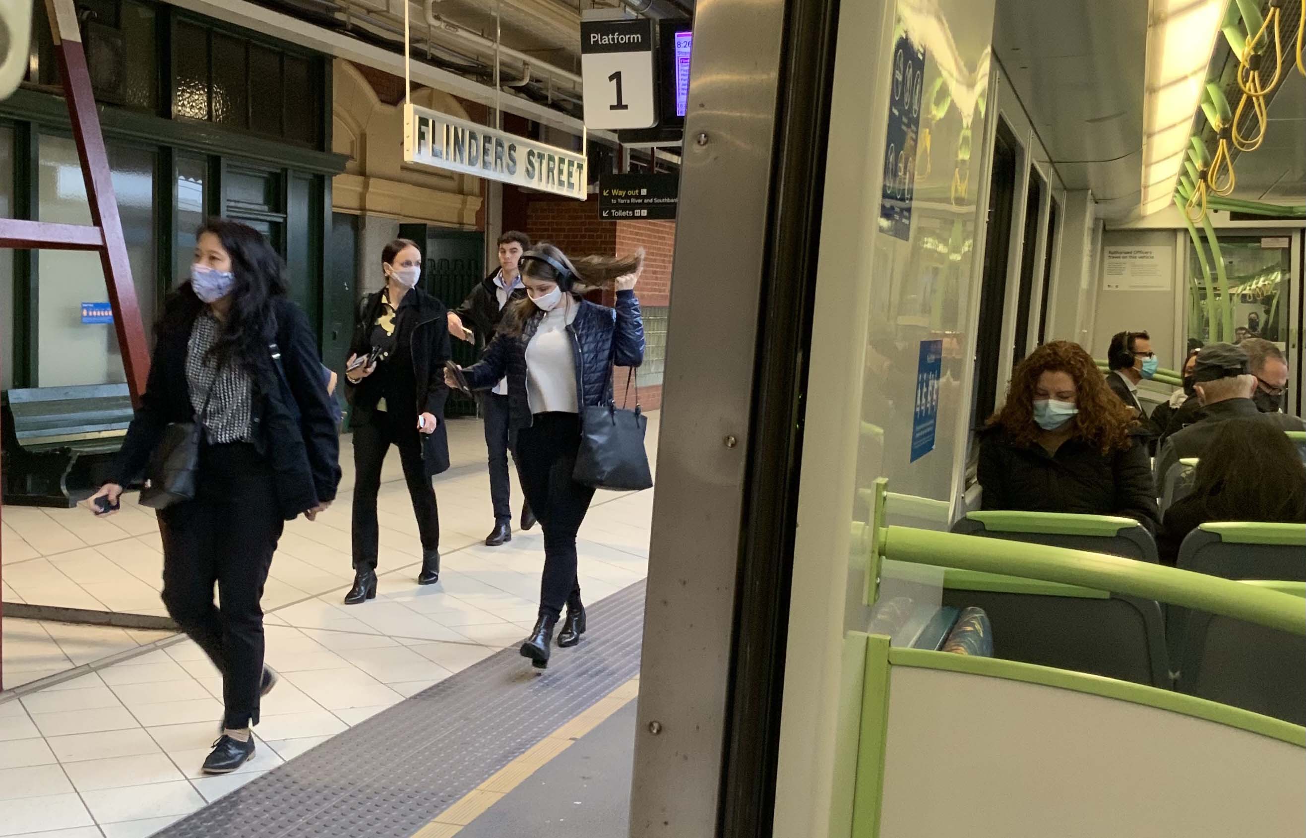
[[(485, 356), (464, 369), (474, 390), (488, 390), (503, 377), (508, 379), (509, 426), (513, 429), (532, 424), (526, 398), (526, 345), (539, 326), (543, 312), (529, 321), (520, 337), (495, 335)], [(635, 291), (618, 291), (616, 308), (581, 300), (576, 320), (567, 326), (572, 338), (577, 390), (586, 406), (606, 405), (611, 399), (611, 369), (639, 367), (644, 362), (644, 318)]]

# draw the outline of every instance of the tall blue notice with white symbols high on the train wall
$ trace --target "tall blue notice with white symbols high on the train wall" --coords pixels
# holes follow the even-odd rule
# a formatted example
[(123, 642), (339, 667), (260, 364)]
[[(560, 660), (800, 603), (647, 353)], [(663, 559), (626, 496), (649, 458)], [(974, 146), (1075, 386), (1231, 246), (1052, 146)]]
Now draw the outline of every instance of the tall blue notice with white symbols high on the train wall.
[(893, 30), (897, 40), (893, 44), (893, 72), (889, 80), (889, 123), (884, 140), (880, 230), (895, 239), (908, 241), (912, 238), (921, 97), (925, 93), (925, 47), (912, 42), (901, 18)]

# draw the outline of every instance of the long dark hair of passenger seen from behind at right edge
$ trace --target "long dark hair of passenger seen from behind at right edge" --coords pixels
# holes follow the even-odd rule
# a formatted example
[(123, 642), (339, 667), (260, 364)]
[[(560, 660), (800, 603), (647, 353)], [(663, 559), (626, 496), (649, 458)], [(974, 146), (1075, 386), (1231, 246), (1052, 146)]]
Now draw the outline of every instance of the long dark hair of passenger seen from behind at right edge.
[(1306, 465), (1277, 427), (1229, 419), (1198, 461), (1188, 497), (1209, 521), (1306, 521)]

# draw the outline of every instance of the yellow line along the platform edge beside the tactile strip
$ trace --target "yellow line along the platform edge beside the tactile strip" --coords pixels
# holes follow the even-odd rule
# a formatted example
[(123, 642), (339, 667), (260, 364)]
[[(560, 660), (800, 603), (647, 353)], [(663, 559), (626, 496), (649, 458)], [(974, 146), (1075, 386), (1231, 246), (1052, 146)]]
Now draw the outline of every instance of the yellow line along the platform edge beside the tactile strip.
[(629, 704), (639, 693), (640, 679), (635, 676), (495, 771), (490, 779), (436, 815), (435, 820), (419, 829), (413, 838), (452, 838), (550, 760), (567, 751), (577, 739)]

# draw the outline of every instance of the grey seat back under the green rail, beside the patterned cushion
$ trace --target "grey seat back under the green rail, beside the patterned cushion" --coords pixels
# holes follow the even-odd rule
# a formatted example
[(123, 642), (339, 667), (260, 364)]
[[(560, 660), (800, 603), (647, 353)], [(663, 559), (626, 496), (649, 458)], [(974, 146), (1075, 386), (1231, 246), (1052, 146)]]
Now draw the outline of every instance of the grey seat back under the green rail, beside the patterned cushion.
[(983, 608), (994, 658), (1170, 688), (1165, 621), (1155, 600), (947, 569), (943, 604)]

